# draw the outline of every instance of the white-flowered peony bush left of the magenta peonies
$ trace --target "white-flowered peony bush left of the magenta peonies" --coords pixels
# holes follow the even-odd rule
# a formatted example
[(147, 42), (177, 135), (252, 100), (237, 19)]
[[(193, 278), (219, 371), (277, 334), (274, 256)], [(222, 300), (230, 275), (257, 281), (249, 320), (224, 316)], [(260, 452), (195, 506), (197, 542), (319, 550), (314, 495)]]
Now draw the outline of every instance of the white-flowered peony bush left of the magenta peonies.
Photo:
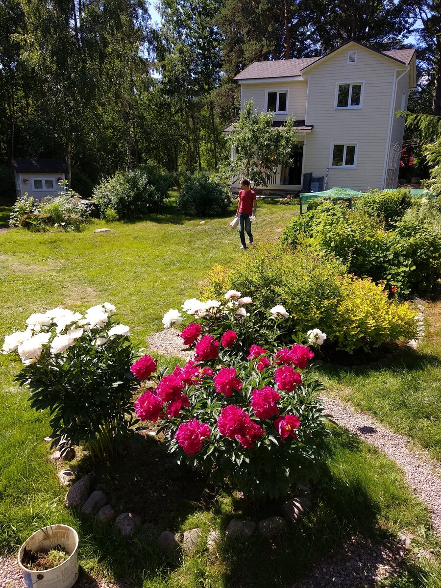
[(114, 313), (108, 302), (84, 315), (64, 308), (34, 313), (2, 348), (23, 364), (15, 381), (31, 391), (31, 407), (49, 410), (52, 446), (67, 438), (98, 461), (114, 459), (137, 422), (130, 370), (136, 351)]

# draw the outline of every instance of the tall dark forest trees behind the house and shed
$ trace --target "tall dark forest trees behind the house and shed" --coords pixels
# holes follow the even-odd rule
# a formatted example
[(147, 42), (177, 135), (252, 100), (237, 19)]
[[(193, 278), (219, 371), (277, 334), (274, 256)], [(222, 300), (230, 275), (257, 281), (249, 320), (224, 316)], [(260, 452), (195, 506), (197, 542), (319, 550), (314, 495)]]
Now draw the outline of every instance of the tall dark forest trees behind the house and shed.
[[(440, 115), (439, 0), (0, 0), (0, 194), (13, 157), (65, 159), (83, 197), (146, 162), (215, 173), (253, 61), (350, 41), (417, 49), (409, 110)], [(418, 133), (417, 128), (407, 133)]]

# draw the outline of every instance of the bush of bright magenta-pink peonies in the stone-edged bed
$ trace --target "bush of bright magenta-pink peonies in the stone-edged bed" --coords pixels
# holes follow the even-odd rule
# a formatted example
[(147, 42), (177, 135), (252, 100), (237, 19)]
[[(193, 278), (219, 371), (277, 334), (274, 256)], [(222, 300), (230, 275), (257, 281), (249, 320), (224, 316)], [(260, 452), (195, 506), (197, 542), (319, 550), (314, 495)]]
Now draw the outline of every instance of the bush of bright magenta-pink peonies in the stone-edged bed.
[[(185, 306), (198, 305), (187, 300)], [(228, 347), (219, 339), (220, 332), (216, 338), (203, 335), (199, 343), (206, 353), (198, 360), (171, 374), (152, 373), (135, 402), (136, 415), (161, 420), (168, 451), (178, 463), (215, 482), (228, 480), (253, 499), (287, 495), (310, 473), (326, 432), (322, 385), (308, 366), (314, 353), (299, 343), (270, 352), (258, 345), (235, 349), (236, 342)], [(142, 365), (153, 367), (152, 359), (144, 356)]]

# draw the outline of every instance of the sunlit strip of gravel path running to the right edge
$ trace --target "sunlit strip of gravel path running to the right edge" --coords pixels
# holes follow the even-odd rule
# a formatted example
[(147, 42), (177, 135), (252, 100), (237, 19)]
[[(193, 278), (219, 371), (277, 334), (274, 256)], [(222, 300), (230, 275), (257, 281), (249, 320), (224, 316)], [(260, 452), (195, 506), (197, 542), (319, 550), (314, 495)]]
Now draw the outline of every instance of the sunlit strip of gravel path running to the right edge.
[(339, 399), (322, 396), (322, 403), (338, 425), (386, 453), (404, 470), (410, 488), (432, 514), (434, 532), (441, 534), (441, 464), (432, 466), (426, 452), (409, 449), (409, 439), (386, 429), (365, 413), (355, 412)]

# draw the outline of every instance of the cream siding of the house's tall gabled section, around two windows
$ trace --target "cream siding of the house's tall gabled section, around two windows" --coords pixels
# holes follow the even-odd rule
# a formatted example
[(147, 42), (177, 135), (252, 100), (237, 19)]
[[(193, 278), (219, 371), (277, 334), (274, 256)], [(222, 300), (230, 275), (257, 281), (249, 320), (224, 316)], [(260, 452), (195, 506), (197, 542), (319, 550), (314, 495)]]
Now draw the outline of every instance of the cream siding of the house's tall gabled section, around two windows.
[[(356, 167), (330, 168), (328, 188), (382, 188), (395, 70), (400, 64), (361, 46), (356, 48), (356, 63), (348, 63), (349, 51), (342, 48), (305, 72), (309, 76), (306, 124), (314, 129), (307, 138), (303, 172), (325, 176), (332, 144), (357, 144)], [(336, 85), (351, 82), (363, 83), (362, 108), (335, 109)]]

